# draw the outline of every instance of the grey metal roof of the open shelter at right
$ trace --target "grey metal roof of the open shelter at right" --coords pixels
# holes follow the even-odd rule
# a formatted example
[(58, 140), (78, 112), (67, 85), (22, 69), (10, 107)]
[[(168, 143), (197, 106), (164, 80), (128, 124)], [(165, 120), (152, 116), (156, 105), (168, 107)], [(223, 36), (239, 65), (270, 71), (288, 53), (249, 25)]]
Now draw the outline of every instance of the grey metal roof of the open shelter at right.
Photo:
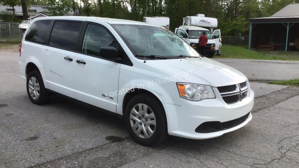
[(299, 3), (288, 4), (274, 15), (263, 18), (251, 18), (251, 22), (298, 22), (299, 21)]

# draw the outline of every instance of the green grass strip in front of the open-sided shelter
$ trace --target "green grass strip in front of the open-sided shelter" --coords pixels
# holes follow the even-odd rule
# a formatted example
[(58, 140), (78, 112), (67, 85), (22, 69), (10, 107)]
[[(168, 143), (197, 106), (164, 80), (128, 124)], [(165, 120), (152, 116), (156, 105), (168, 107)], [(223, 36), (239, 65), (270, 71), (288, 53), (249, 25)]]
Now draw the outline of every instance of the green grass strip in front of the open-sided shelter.
[(289, 60), (299, 61), (298, 51), (264, 51), (248, 50), (248, 46), (222, 45), (221, 56), (215, 58), (237, 58), (237, 59), (267, 59), (267, 60)]

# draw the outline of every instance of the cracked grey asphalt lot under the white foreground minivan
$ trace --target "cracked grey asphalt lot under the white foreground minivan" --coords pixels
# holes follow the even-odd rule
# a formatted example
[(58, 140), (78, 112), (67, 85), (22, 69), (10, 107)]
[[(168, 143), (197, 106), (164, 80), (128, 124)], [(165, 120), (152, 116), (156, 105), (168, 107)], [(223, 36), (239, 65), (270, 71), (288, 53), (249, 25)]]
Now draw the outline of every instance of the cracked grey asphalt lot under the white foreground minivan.
[(1, 168), (299, 167), (299, 88), (250, 82), (256, 97), (244, 127), (217, 138), (170, 138), (145, 147), (117, 117), (58, 96), (43, 106), (32, 104), (18, 54), (0, 51)]

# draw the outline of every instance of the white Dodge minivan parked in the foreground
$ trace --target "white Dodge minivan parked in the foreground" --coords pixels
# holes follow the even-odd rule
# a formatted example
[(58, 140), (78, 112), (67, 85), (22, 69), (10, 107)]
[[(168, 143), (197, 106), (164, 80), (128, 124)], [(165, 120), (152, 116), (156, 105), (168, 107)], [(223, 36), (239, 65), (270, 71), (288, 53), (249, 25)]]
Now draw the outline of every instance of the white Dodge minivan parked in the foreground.
[(56, 94), (114, 114), (146, 146), (169, 135), (218, 137), (252, 118), (248, 79), (167, 28), (83, 16), (41, 17), (29, 27), (19, 68), (34, 104)]

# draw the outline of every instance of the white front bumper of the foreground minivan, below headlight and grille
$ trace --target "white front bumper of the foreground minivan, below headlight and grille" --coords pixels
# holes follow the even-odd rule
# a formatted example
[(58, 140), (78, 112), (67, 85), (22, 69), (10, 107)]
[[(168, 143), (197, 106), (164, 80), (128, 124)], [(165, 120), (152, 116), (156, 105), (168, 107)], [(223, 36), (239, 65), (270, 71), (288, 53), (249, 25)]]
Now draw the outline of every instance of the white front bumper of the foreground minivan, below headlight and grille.
[[(214, 88), (213, 88), (214, 89)], [(254, 92), (248, 89), (248, 95), (240, 103), (228, 105), (222, 100), (219, 92), (215, 90), (215, 99), (190, 101), (181, 98), (182, 106), (164, 104), (167, 116), (168, 134), (190, 139), (208, 139), (234, 131), (246, 125), (252, 118), (249, 113), (254, 104)], [(219, 94), (219, 95), (218, 95)], [(195, 129), (208, 121), (220, 121), (221, 123), (237, 119), (249, 113), (241, 124), (230, 129), (211, 133), (197, 133)]]

